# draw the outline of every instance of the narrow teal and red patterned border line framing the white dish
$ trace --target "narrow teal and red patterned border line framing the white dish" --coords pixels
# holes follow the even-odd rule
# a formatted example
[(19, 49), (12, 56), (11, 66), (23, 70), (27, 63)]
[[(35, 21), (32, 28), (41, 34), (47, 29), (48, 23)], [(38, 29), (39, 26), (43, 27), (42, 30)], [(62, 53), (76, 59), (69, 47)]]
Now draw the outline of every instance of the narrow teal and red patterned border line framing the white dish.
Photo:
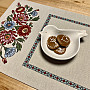
[[(78, 22), (78, 21), (70, 20), (70, 19), (67, 19), (67, 18), (60, 17), (60, 16), (56, 16), (56, 15), (49, 14), (49, 15), (48, 15), (48, 18), (46, 19), (46, 21), (45, 21), (45, 23), (44, 23), (44, 25), (43, 25), (43, 27), (42, 27), (42, 29), (41, 29), (41, 31), (43, 30), (43, 28), (44, 28), (46, 25), (48, 25), (51, 17), (57, 18), (57, 19), (60, 19), (60, 20), (69, 21), (69, 22), (71, 22), (71, 23), (83, 25), (83, 26), (86, 26), (86, 27), (90, 27), (90, 25), (85, 24), (85, 23), (82, 23), (82, 22)], [(29, 69), (31, 69), (31, 70), (34, 70), (34, 71), (36, 71), (36, 72), (38, 72), (38, 73), (40, 73), (40, 74), (42, 74), (42, 75), (45, 75), (45, 76), (47, 76), (47, 77), (49, 77), (49, 78), (52, 78), (52, 79), (54, 79), (54, 80), (56, 80), (56, 81), (58, 81), (58, 82), (61, 82), (61, 83), (66, 84), (66, 85), (68, 85), (68, 86), (70, 86), (70, 87), (73, 87), (73, 88), (75, 88), (75, 89), (77, 89), (77, 90), (89, 90), (88, 88), (85, 88), (85, 87), (83, 87), (83, 86), (81, 86), (81, 85), (79, 85), (79, 84), (76, 84), (76, 83), (74, 83), (74, 82), (72, 82), (72, 81), (69, 81), (69, 80), (64, 79), (64, 78), (62, 78), (62, 77), (60, 77), (60, 76), (57, 76), (57, 75), (55, 75), (55, 74), (52, 74), (52, 73), (50, 73), (50, 72), (48, 72), (48, 71), (45, 71), (45, 70), (43, 70), (43, 69), (41, 69), (41, 68), (38, 68), (38, 67), (36, 67), (36, 66), (34, 66), (34, 65), (29, 64), (29, 61), (30, 61), (31, 57), (32, 57), (32, 55), (33, 55), (33, 53), (34, 53), (34, 51), (35, 51), (38, 43), (40, 42), (40, 39), (41, 39), (40, 37), (41, 37), (41, 36), (40, 36), (40, 34), (39, 34), (39, 35), (37, 36), (36, 40), (35, 40), (35, 43), (33, 44), (32, 48), (31, 48), (31, 50), (30, 50), (30, 52), (29, 52), (26, 60), (24, 61), (23, 66), (25, 66), (25, 67), (27, 67), (27, 68), (29, 68)]]

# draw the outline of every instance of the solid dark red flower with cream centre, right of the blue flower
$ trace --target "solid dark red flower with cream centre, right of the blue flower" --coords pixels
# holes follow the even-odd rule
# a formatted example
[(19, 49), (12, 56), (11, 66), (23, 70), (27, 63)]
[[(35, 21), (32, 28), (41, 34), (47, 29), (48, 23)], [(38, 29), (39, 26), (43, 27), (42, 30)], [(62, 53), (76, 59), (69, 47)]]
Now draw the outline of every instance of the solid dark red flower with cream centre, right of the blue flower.
[(19, 36), (29, 35), (30, 32), (31, 32), (31, 27), (29, 25), (23, 25), (19, 27), (19, 29), (17, 30), (17, 34), (19, 34)]

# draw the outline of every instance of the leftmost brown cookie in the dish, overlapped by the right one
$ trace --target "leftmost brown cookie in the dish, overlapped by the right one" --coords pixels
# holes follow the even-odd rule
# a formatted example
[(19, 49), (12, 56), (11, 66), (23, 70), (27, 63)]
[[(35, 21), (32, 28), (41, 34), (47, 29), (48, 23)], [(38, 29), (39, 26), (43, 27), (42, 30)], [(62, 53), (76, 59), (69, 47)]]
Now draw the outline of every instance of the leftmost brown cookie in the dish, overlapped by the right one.
[(47, 46), (49, 49), (52, 49), (52, 50), (57, 49), (59, 47), (59, 44), (56, 42), (55, 36), (51, 36), (48, 38)]

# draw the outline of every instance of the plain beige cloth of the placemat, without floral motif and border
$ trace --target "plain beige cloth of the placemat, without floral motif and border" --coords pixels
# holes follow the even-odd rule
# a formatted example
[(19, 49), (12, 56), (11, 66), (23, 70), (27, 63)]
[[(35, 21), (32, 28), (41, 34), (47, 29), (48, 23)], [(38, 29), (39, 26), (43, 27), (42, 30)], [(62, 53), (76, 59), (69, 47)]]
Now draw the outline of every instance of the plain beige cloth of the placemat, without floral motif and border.
[[(0, 71), (39, 90), (73, 90), (72, 87), (64, 85), (26, 67), (23, 67), (22, 64), (49, 14), (54, 14), (87, 24), (90, 24), (90, 17), (30, 1), (16, 0), (0, 18), (0, 22), (5, 20), (6, 17), (10, 15), (12, 9), (16, 8), (18, 2), (20, 2), (22, 5), (32, 6), (34, 9), (40, 9), (38, 12), (40, 20), (33, 22), (34, 27), (32, 28), (29, 38), (23, 43), (21, 52), (18, 52), (13, 57), (8, 58), (8, 63), (6, 65), (0, 61)], [(62, 29), (85, 29), (87, 30), (88, 36), (83, 38), (83, 42), (80, 44), (80, 51), (72, 60), (65, 62), (51, 60), (42, 52), (39, 43), (29, 63), (82, 86), (90, 88), (90, 27), (63, 21), (57, 18), (51, 18), (49, 25), (55, 25)]]

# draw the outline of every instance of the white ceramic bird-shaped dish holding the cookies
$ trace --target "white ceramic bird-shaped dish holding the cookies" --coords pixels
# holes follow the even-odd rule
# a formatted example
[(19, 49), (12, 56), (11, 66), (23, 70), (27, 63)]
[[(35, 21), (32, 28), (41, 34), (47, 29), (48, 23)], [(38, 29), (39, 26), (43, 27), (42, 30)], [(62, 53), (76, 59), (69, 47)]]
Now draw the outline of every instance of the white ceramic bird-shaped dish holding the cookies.
[[(80, 38), (87, 36), (86, 30), (58, 29), (54, 25), (47, 25), (40, 34), (42, 50), (48, 56), (57, 60), (68, 60), (74, 57), (80, 49)], [(48, 38), (59, 34), (67, 35), (70, 38), (70, 44), (63, 55), (58, 55), (47, 47)]]

